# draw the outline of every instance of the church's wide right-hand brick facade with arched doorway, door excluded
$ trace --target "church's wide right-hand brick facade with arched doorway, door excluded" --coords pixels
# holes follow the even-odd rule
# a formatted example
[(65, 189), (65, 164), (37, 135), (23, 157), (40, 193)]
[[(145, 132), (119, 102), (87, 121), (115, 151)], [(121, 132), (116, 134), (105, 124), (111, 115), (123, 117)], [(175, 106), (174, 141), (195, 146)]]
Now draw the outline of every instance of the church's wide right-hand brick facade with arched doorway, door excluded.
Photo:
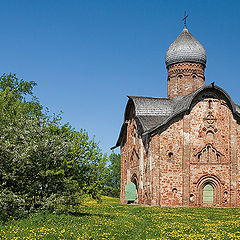
[[(210, 109), (209, 100), (212, 101)], [(209, 98), (154, 137), (160, 141), (160, 205), (199, 206), (202, 184), (210, 182), (216, 185), (215, 206), (239, 206), (237, 127), (226, 102)], [(209, 131), (213, 132), (210, 138)], [(157, 154), (156, 149), (151, 152)], [(168, 152), (173, 153), (172, 159)], [(173, 188), (177, 189), (176, 193)]]

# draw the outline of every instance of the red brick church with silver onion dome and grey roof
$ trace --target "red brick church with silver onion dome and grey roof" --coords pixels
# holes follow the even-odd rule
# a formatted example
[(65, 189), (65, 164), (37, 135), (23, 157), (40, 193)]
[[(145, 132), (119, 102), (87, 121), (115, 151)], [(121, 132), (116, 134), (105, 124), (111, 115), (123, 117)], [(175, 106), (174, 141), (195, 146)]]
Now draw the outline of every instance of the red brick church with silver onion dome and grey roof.
[(240, 207), (240, 108), (205, 85), (206, 61), (185, 26), (166, 52), (168, 97), (128, 97), (121, 203)]

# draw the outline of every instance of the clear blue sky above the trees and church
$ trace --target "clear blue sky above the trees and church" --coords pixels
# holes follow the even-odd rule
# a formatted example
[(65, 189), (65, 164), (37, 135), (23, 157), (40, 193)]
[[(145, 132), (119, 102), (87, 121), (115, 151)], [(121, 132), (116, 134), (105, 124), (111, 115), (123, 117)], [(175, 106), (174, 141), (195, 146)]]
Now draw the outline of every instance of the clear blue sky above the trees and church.
[(63, 123), (115, 145), (127, 95), (166, 97), (164, 56), (183, 29), (205, 47), (206, 84), (240, 103), (240, 1), (0, 1), (0, 74), (38, 86)]

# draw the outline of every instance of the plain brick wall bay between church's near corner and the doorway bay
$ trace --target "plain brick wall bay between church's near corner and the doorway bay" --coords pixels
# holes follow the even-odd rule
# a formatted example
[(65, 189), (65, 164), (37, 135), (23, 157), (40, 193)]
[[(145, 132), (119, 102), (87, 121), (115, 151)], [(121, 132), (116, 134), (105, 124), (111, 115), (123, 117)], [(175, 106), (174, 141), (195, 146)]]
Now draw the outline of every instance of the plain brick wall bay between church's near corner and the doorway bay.
[(182, 205), (182, 128), (183, 121), (177, 121), (151, 140), (154, 142), (150, 152), (155, 169), (152, 205)]

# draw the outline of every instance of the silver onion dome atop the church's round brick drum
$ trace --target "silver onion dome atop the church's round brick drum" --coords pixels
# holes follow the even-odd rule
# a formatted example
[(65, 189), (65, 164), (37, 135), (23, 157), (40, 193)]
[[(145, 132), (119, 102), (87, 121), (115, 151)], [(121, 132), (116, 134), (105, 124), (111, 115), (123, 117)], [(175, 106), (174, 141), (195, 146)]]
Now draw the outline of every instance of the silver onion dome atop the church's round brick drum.
[(206, 66), (207, 54), (201, 43), (184, 28), (166, 52), (165, 63), (168, 67), (179, 62), (197, 62)]

